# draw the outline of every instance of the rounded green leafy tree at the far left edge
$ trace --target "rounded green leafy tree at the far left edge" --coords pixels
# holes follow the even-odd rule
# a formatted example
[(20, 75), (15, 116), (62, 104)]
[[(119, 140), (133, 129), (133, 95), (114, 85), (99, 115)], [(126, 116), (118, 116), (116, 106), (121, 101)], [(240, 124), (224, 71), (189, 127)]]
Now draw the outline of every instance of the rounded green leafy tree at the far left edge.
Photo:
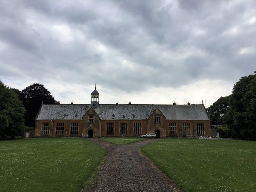
[(0, 139), (21, 135), (25, 112), (17, 94), (0, 81)]

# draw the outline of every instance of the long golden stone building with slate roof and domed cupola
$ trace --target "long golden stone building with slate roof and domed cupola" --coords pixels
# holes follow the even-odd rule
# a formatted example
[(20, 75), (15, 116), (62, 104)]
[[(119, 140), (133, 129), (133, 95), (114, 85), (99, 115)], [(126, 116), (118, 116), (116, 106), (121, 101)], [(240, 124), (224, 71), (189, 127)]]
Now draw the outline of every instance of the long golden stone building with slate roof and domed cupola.
[(36, 116), (35, 137), (157, 137), (211, 136), (210, 119), (204, 105), (109, 105), (99, 103), (99, 92), (91, 104), (42, 104)]

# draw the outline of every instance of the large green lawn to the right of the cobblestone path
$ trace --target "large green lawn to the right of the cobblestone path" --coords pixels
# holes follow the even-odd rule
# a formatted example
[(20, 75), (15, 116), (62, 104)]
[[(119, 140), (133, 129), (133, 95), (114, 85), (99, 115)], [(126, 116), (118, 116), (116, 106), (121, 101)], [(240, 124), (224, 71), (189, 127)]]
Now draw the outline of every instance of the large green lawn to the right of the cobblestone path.
[(256, 191), (256, 141), (163, 139), (141, 150), (185, 191)]

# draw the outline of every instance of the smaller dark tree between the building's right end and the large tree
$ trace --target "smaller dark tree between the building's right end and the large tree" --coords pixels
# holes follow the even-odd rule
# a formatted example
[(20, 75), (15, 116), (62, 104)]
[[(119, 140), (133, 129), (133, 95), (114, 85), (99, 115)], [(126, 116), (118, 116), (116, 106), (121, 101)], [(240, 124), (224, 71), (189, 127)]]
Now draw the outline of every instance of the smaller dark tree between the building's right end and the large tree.
[(211, 114), (212, 125), (222, 125), (222, 117), (228, 112), (229, 109), (228, 99), (229, 96), (220, 97), (211, 105), (211, 107), (206, 109), (208, 113)]

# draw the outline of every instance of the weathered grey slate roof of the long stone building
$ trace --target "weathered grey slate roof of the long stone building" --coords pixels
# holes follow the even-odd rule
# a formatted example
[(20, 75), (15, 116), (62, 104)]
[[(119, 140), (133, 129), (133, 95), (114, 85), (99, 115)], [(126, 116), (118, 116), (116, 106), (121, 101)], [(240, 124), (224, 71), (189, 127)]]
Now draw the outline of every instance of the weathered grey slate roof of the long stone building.
[[(43, 104), (36, 120), (82, 119), (90, 104)], [(94, 109), (102, 120), (148, 119), (158, 108), (167, 120), (209, 120), (203, 105), (99, 105)]]

